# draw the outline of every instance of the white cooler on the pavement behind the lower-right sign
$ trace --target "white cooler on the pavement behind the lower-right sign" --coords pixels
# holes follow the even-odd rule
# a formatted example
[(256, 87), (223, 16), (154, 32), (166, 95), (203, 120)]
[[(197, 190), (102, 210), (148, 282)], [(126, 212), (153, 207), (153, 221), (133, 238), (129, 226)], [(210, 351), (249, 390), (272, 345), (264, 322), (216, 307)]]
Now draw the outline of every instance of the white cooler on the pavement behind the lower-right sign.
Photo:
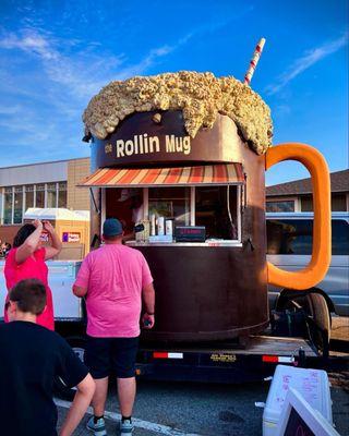
[(285, 398), (289, 388), (296, 389), (332, 425), (332, 400), (327, 373), (277, 365), (263, 412), (263, 436), (276, 435)]

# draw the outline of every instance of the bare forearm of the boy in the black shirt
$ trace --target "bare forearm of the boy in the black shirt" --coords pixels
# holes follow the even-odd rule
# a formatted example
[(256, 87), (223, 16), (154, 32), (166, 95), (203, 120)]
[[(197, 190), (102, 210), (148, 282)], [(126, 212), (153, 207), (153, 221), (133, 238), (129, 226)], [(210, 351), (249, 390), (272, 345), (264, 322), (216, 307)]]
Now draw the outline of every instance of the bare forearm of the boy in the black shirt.
[(70, 436), (77, 427), (95, 392), (95, 382), (92, 376), (87, 374), (76, 388), (77, 391), (63, 422), (60, 436)]

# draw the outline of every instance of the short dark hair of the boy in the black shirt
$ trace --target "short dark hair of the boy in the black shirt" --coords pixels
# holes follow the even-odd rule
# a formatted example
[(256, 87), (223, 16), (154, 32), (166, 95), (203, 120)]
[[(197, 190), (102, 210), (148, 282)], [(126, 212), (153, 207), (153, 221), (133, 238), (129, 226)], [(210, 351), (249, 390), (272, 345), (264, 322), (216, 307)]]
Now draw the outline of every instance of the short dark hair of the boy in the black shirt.
[(11, 289), (9, 300), (16, 302), (20, 311), (39, 315), (46, 306), (45, 286), (37, 279), (21, 280)]

